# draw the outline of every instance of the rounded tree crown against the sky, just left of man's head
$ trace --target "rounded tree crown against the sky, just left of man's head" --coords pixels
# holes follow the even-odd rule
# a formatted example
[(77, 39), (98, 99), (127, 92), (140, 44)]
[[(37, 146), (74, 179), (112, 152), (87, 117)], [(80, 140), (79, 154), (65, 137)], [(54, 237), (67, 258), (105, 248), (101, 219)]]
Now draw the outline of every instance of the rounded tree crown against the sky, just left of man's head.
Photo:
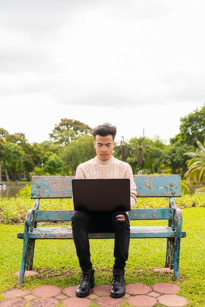
[(53, 142), (68, 145), (74, 141), (79, 135), (91, 135), (92, 128), (84, 123), (73, 119), (61, 119), (58, 125), (55, 125), (50, 138)]

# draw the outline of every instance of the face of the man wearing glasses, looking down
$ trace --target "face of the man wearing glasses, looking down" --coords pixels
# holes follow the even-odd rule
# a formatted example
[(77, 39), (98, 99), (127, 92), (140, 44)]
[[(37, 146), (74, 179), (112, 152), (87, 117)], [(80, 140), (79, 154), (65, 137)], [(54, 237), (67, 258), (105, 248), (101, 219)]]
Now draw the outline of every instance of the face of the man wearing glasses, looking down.
[(93, 142), (97, 158), (102, 161), (111, 159), (115, 142), (113, 142), (112, 135), (101, 136), (96, 135), (95, 142)]

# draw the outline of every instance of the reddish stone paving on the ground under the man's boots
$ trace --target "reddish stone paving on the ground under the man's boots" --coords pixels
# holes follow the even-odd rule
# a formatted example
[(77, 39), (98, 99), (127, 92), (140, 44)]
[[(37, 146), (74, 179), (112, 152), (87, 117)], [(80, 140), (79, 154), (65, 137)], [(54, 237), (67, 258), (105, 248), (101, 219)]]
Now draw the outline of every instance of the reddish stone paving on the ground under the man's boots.
[(4, 297), (0, 307), (154, 307), (161, 304), (166, 307), (185, 307), (188, 300), (179, 296), (180, 287), (170, 282), (158, 282), (152, 287), (140, 283), (128, 283), (126, 295), (120, 299), (110, 296), (111, 285), (94, 287), (86, 298), (76, 297), (77, 286), (60, 289), (54, 285), (42, 285), (33, 290), (11, 289), (2, 292)]

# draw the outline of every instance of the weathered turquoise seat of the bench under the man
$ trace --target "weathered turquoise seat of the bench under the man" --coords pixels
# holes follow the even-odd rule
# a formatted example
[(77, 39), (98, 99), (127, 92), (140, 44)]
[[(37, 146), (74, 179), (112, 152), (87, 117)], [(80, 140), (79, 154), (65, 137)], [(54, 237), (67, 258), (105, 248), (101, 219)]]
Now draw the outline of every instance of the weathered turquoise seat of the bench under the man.
[[(18, 233), (18, 238), (24, 238), (24, 232)], [(185, 232), (181, 233), (181, 237)], [(89, 233), (90, 239), (111, 239), (115, 235), (112, 232)], [(175, 237), (171, 227), (163, 226), (131, 226), (130, 238), (170, 238)], [(37, 227), (29, 232), (29, 239), (73, 239), (72, 227)]]

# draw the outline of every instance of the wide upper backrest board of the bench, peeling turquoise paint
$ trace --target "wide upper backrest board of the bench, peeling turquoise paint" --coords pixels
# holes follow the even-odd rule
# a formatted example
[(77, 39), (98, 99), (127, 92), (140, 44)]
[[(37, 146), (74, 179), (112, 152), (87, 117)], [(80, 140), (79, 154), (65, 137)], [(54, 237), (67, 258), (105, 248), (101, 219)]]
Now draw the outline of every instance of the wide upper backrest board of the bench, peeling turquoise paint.
[[(75, 176), (33, 176), (31, 198), (71, 198)], [(134, 175), (138, 197), (180, 197), (180, 175)]]

